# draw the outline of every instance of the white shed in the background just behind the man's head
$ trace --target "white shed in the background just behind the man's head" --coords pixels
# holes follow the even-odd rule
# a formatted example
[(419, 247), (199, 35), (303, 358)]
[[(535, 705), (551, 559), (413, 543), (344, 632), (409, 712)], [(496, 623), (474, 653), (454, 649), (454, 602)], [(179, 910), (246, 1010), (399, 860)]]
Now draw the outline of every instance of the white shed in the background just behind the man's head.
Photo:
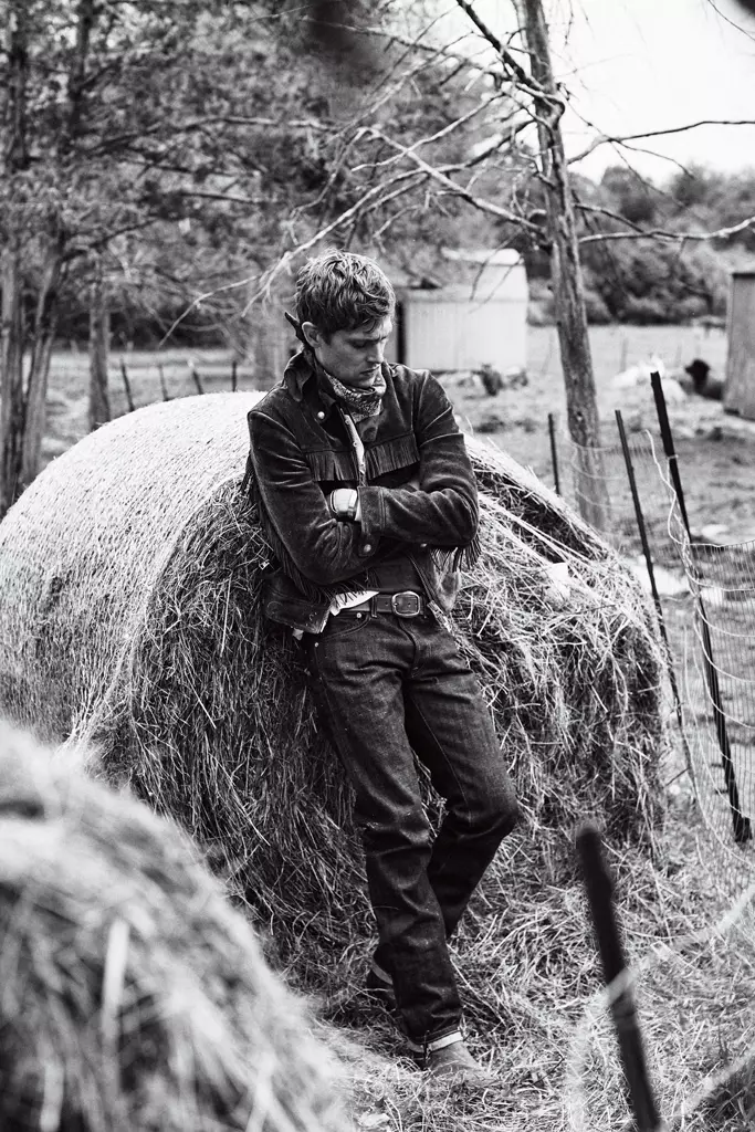
[(400, 289), (394, 357), (412, 369), (526, 369), (527, 281), (517, 251), (444, 249), (470, 282)]

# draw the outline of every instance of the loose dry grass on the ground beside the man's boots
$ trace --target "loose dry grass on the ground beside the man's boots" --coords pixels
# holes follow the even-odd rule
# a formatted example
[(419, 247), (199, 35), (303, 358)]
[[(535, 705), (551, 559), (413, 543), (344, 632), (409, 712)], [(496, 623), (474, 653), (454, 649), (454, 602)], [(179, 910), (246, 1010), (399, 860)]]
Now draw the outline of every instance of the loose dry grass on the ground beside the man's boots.
[[(674, 837), (659, 837), (653, 861), (633, 849), (610, 855), (649, 1067), (669, 1129), (746, 1132), (755, 1114), (754, 894), (732, 910), (711, 889), (711, 844), (686, 799), (669, 824)], [(509, 886), (517, 883), (512, 874)], [(401, 1067), (371, 1069), (362, 1103), (385, 1116), (386, 1132), (629, 1132), (581, 886), (533, 883), (529, 908), (503, 877), (490, 887), (488, 877), (455, 953), (470, 1045), (500, 1070), (500, 1088), (438, 1089)], [(354, 1007), (351, 1023), (391, 1050), (387, 1020)]]

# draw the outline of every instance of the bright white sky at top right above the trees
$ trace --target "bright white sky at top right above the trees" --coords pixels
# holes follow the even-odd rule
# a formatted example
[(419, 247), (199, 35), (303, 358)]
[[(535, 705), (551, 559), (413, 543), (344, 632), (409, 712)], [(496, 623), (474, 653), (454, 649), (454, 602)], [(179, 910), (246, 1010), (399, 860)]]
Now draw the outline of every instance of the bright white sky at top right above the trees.
[[(477, 0), (475, 8), (498, 33), (511, 28), (512, 0)], [(733, 0), (546, 0), (546, 10), (554, 67), (570, 92), (567, 155), (582, 153), (598, 131), (753, 121), (636, 140), (632, 152), (603, 145), (580, 162), (581, 172), (599, 180), (607, 165), (627, 161), (662, 182), (690, 162), (755, 169), (755, 18)]]

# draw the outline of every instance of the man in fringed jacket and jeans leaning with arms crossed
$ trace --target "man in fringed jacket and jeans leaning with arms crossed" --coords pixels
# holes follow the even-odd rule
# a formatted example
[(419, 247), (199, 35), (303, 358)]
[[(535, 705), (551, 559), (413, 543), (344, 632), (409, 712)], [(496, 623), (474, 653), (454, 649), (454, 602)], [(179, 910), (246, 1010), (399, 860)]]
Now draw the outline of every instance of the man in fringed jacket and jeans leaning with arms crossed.
[[(250, 470), (280, 560), (267, 611), (300, 636), (355, 791), (379, 942), (418, 1063), (482, 1071), (462, 1039), (447, 938), (517, 807), (475, 679), (436, 611), (479, 552), (464, 438), (440, 385), (384, 361), (395, 295), (332, 251), (297, 281), (303, 349), (249, 413)], [(446, 799), (435, 842), (414, 755)]]

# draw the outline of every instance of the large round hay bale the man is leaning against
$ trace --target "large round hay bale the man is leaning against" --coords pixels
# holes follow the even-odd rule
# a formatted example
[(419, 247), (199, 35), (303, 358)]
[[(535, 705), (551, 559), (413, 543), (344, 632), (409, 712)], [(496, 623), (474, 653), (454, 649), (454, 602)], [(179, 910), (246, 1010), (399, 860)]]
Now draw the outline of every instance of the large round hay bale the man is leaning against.
[[(311, 959), (317, 975), (323, 949), (366, 947), (372, 920), (351, 796), (298, 646), (258, 611), (269, 551), (240, 491), (257, 396), (120, 418), (11, 508), (0, 524), (0, 712), (94, 744), (108, 778), (189, 830), (282, 955), (300, 975)], [(652, 839), (662, 653), (611, 549), (504, 453), (469, 448), (483, 552), (453, 628), (538, 831), (527, 859), (555, 876), (572, 868), (565, 839), (587, 815), (617, 841)], [(572, 577), (561, 602), (547, 574), (558, 559)]]

